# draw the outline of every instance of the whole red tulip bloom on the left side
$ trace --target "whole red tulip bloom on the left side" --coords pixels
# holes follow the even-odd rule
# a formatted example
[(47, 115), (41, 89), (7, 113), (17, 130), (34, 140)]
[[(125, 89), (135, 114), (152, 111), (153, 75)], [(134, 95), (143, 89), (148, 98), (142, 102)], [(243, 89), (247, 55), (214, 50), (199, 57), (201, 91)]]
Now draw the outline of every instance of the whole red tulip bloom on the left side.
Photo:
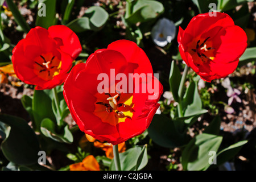
[(13, 49), (14, 71), (37, 90), (52, 89), (64, 82), (81, 50), (79, 38), (66, 26), (35, 27)]

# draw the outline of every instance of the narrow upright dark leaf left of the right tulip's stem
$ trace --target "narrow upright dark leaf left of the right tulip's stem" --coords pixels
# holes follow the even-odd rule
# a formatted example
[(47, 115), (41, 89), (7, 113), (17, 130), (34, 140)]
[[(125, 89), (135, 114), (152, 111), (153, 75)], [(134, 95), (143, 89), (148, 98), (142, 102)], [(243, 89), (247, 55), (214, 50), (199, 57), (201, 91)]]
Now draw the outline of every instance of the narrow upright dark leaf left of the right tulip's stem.
[(181, 80), (181, 73), (179, 67), (177, 67), (175, 61), (172, 61), (171, 64), (171, 71), (169, 76), (169, 84), (170, 84), (170, 90), (172, 92), (172, 95), (174, 96), (175, 101), (179, 101), (179, 86), (180, 86), (180, 80)]

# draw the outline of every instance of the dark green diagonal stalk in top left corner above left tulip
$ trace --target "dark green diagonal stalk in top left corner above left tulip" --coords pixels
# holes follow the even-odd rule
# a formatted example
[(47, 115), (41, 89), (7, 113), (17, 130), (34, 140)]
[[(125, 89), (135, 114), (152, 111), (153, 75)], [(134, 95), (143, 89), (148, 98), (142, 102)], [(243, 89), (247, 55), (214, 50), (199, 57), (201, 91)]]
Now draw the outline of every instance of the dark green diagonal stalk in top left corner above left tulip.
[(13, 0), (6, 0), (6, 3), (11, 10), (11, 13), (13, 13), (13, 16), (15, 18), (16, 23), (19, 24), (20, 27), (22, 27), (22, 30), (26, 33), (30, 31), (30, 26), (28, 26), (26, 20), (24, 17), (20, 14), (18, 8), (14, 4)]

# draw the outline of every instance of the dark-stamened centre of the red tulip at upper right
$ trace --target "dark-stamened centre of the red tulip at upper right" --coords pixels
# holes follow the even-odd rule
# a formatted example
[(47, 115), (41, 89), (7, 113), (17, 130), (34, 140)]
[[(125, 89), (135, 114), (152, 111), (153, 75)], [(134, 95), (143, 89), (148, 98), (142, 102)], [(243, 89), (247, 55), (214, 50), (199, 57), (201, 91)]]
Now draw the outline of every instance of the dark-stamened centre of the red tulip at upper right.
[(210, 37), (204, 39), (203, 42), (202, 40), (197, 40), (196, 44), (194, 43), (194, 46), (192, 46), (195, 48), (191, 49), (191, 55), (196, 55), (200, 58), (200, 61), (197, 61), (196, 63), (197, 66), (200, 66), (201, 64), (212, 61), (214, 59), (213, 52), (211, 51), (214, 49), (214, 47), (210, 46), (212, 43), (210, 43), (208, 39), (210, 39)]

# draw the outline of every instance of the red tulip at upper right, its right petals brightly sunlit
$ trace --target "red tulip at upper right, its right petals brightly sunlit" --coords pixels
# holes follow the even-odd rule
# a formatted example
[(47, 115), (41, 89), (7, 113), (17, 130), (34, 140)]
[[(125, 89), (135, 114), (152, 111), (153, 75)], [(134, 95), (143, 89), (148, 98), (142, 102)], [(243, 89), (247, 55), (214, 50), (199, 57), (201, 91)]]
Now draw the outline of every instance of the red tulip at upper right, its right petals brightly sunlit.
[(179, 28), (179, 51), (185, 63), (203, 80), (224, 78), (234, 72), (247, 47), (247, 36), (225, 13), (199, 14), (187, 28)]

